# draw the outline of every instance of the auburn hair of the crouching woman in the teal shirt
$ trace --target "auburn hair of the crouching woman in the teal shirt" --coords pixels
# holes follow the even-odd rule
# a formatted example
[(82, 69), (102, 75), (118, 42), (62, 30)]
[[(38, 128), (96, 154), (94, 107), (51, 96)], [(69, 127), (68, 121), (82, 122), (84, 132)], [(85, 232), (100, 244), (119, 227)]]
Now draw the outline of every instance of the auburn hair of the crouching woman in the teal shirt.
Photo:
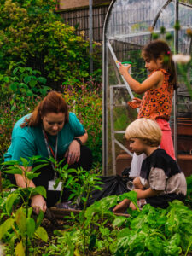
[(20, 125), (21, 128), (25, 126), (38, 126), (42, 123), (42, 118), (47, 113), (64, 113), (65, 124), (68, 122), (68, 106), (62, 98), (61, 93), (54, 90), (50, 91), (43, 101), (38, 104), (29, 118), (26, 118), (24, 123)]

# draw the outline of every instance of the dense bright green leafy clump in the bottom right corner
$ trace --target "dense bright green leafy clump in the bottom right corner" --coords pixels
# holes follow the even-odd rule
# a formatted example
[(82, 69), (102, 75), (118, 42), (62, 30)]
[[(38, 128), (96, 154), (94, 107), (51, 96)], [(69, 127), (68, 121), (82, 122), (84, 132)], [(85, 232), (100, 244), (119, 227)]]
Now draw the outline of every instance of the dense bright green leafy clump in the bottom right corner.
[(114, 255), (187, 255), (192, 249), (191, 214), (181, 201), (173, 201), (165, 210), (144, 206), (129, 228), (120, 230)]

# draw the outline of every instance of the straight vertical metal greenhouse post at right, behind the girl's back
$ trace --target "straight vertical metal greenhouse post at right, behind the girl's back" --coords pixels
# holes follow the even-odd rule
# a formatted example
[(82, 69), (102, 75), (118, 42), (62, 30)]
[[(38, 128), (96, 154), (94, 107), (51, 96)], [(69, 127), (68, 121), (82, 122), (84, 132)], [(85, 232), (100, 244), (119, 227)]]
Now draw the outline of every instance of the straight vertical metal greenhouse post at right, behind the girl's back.
[[(178, 22), (178, 0), (175, 0), (175, 24)], [(178, 53), (178, 30), (175, 29), (174, 32), (174, 49), (175, 54)], [(176, 73), (177, 73), (177, 64), (176, 64)], [(177, 160), (177, 88), (174, 90), (174, 148), (175, 148), (175, 157)]]

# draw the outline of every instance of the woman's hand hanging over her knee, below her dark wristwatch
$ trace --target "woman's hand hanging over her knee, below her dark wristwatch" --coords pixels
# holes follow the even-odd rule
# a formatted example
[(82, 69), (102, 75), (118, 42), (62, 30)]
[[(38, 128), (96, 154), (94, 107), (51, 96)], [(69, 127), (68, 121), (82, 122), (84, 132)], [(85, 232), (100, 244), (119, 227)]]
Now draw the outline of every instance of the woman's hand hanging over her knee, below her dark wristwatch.
[(73, 140), (73, 142), (69, 145), (68, 150), (65, 154), (67, 157), (67, 164), (73, 165), (75, 162), (79, 161), (80, 158), (80, 144), (79, 142)]

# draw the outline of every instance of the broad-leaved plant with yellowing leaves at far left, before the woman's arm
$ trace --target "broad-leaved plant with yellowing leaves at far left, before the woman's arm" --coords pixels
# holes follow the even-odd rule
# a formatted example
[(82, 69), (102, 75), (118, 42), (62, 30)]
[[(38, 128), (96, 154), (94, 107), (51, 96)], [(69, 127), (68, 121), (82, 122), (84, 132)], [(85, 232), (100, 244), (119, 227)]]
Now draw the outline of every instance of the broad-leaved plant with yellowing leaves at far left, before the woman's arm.
[[(30, 163), (34, 162), (41, 164), (32, 168), (30, 172), (27, 171)], [(32, 196), (43, 195), (46, 198), (46, 190), (40, 186), (36, 188), (28, 187), (27, 179), (32, 180), (32, 178), (38, 177), (39, 173), (35, 172), (42, 166), (47, 165), (47, 161), (40, 160), (40, 157), (36, 156), (30, 160), (21, 158), (20, 161), (8, 161), (3, 165), (6, 166), (4, 172), (23, 175), (26, 188), (15, 189), (4, 201), (4, 212), (1, 214), (0, 240), (9, 240), (9, 246), (12, 252), (15, 251), (15, 255), (29, 255), (32, 240), (38, 238), (47, 241), (48, 235), (46, 230), (40, 227), (44, 212), (40, 211), (35, 221), (32, 218), (32, 207), (29, 207)], [(22, 201), (21, 207), (19, 207), (20, 201)]]

